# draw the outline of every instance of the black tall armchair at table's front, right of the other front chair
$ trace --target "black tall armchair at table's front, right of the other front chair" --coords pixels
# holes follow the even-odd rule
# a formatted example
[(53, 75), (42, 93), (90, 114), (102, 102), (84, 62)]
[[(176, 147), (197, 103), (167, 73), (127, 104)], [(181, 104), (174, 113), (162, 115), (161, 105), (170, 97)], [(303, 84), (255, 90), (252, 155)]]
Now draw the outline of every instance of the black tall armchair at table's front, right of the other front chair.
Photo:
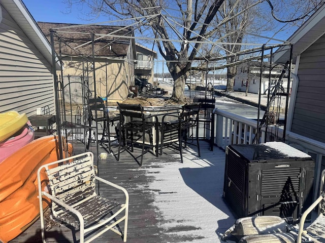
[[(182, 147), (187, 144), (193, 144), (198, 147), (198, 155), (200, 153), (199, 143), (199, 111), (201, 104), (185, 104), (180, 114), (166, 114), (163, 116), (160, 124), (160, 154), (163, 154), (164, 146), (171, 146), (178, 143), (180, 151), (181, 163), (183, 163)], [(195, 133), (191, 133), (195, 129)], [(195, 137), (196, 144), (193, 143)], [(188, 138), (192, 138), (189, 142)]]

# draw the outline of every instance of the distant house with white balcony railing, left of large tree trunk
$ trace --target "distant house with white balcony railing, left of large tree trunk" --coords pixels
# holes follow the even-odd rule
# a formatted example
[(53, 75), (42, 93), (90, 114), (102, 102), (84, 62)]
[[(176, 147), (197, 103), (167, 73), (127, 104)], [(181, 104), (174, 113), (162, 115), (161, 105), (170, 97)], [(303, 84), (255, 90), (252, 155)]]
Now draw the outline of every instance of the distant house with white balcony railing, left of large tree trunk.
[(153, 84), (154, 59), (157, 59), (157, 53), (139, 44), (136, 44), (136, 53), (136, 77), (146, 78)]

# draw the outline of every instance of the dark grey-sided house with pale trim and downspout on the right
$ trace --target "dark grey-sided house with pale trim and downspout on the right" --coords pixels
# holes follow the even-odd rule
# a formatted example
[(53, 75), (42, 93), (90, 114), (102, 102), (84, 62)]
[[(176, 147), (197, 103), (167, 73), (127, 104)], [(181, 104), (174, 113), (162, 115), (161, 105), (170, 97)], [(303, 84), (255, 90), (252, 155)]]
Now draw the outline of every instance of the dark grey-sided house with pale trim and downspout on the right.
[[(316, 172), (325, 168), (325, 5), (293, 35), (293, 88), (288, 111), (286, 141), (296, 143), (316, 161)], [(274, 61), (289, 60), (289, 46), (275, 52)], [(317, 177), (318, 178), (318, 177)]]

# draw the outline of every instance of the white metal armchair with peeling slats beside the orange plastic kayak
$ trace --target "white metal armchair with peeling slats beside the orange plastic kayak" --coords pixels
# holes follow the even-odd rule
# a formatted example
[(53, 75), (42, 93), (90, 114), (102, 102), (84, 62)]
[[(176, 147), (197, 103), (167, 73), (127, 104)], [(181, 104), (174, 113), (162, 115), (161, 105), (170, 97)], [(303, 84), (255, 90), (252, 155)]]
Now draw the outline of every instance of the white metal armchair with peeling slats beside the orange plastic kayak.
[[(47, 175), (50, 190), (42, 188), (41, 180), (45, 178), (44, 173)], [(119, 194), (122, 192), (125, 197), (123, 203), (118, 203), (116, 198), (108, 199), (96, 194), (95, 180), (115, 188)], [(43, 242), (46, 242), (42, 203), (44, 197), (52, 201), (51, 211), (54, 219), (79, 229), (81, 243), (84, 242), (85, 236), (90, 237), (88, 235), (90, 232), (95, 234), (85, 242), (92, 241), (108, 230), (121, 235), (123, 241), (126, 241), (128, 193), (123, 187), (95, 175), (91, 152), (64, 158), (40, 167), (38, 189)], [(113, 213), (113, 210), (116, 212)], [(122, 233), (113, 227), (123, 220), (124, 231)]]

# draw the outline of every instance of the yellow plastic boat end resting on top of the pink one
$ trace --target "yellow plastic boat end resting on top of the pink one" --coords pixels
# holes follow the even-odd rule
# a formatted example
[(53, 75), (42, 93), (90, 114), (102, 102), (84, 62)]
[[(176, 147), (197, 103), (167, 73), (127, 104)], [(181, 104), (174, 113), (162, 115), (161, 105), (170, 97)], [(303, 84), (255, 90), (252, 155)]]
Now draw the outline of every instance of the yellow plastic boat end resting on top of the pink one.
[(5, 141), (17, 133), (28, 121), (25, 113), (17, 111), (0, 113), (0, 142)]

